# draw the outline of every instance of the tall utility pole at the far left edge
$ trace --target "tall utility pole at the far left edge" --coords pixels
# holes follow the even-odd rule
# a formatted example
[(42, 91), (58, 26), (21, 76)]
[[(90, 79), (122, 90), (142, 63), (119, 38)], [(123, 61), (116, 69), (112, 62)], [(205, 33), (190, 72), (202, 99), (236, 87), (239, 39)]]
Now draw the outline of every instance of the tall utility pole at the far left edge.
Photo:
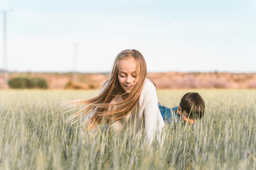
[[(11, 10), (9, 10), (11, 11)], [(3, 16), (4, 16), (4, 34), (3, 34), (3, 70), (2, 70), (2, 87), (4, 88), (4, 86), (7, 86), (7, 81), (9, 79), (9, 72), (8, 72), (8, 59), (7, 59), (7, 38), (6, 38), (6, 32), (7, 32), (7, 24), (6, 24), (6, 13), (8, 11), (4, 10), (4, 11), (1, 11), (3, 13)]]

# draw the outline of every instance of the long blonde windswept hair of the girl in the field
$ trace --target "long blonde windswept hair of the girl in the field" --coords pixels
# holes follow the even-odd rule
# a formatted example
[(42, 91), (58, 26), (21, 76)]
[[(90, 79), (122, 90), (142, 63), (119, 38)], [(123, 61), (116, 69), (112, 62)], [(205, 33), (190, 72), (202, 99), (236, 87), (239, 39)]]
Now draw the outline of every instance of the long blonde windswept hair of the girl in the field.
[[(119, 61), (129, 57), (134, 57), (136, 61), (137, 77), (131, 92), (127, 94), (119, 84), (118, 72)], [(80, 108), (81, 106), (82, 108), (73, 115), (70, 115), (66, 119), (66, 122), (73, 124), (80, 120), (80, 118), (85, 118), (84, 123), (86, 128), (92, 129), (103, 120), (106, 124), (112, 124), (121, 118), (124, 118), (137, 105), (146, 79), (146, 74), (146, 62), (142, 53), (138, 50), (123, 50), (114, 60), (110, 79), (105, 83), (106, 87), (103, 89), (102, 93), (95, 98), (90, 98), (88, 100), (69, 102), (77, 108)], [(111, 103), (117, 95), (121, 95), (123, 100), (117, 103)], [(110, 106), (114, 107), (113, 111), (108, 109)]]

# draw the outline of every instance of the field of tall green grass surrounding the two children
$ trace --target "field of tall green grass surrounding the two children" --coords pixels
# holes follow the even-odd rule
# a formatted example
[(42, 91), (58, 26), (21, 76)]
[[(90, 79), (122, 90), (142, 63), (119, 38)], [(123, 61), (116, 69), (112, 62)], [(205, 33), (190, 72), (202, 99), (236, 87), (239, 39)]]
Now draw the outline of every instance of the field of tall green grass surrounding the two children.
[(195, 128), (166, 125), (149, 145), (143, 129), (117, 136), (65, 123), (60, 102), (98, 90), (1, 90), (0, 169), (256, 169), (256, 90), (159, 90), (159, 101), (178, 106), (188, 91), (204, 98), (205, 116)]

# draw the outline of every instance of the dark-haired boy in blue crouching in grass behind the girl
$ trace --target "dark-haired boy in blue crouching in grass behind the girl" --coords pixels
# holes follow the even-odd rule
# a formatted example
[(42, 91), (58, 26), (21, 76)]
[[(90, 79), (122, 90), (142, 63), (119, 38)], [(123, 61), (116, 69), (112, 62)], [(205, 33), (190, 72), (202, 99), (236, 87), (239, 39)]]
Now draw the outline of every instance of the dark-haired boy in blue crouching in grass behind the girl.
[(196, 120), (203, 117), (205, 103), (203, 98), (196, 92), (188, 92), (181, 98), (179, 106), (166, 108), (159, 104), (164, 121), (167, 123), (189, 123), (193, 125)]

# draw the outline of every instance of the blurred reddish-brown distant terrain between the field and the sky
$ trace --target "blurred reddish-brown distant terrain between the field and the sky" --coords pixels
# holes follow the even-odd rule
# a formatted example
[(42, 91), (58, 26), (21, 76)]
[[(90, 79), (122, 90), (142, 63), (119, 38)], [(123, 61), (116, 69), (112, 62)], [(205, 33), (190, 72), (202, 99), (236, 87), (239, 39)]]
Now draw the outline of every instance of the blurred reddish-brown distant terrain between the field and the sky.
[[(68, 73), (11, 73), (13, 77), (41, 77), (48, 82), (49, 89), (100, 89), (109, 74)], [(220, 72), (164, 72), (149, 73), (148, 77), (157, 89), (256, 89), (256, 73), (234, 74)], [(2, 84), (2, 79), (0, 79)], [(8, 86), (1, 86), (7, 89)]]

